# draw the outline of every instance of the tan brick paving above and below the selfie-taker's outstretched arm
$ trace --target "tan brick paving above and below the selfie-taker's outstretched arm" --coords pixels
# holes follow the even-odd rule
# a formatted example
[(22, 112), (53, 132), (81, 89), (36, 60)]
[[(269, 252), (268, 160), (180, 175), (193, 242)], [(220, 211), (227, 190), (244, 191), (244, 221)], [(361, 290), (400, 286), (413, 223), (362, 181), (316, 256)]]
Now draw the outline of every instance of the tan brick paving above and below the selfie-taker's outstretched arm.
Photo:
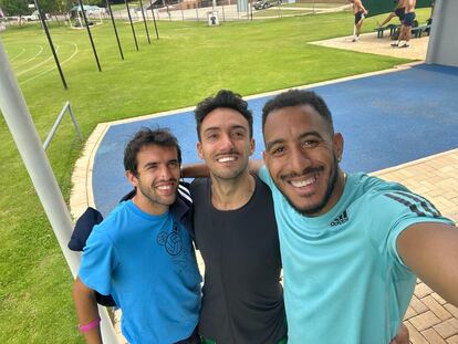
[[(428, 198), (446, 217), (458, 221), (458, 149), (374, 174), (398, 181)], [(457, 291), (458, 292), (458, 291)], [(404, 323), (412, 344), (458, 344), (458, 309), (417, 280)]]

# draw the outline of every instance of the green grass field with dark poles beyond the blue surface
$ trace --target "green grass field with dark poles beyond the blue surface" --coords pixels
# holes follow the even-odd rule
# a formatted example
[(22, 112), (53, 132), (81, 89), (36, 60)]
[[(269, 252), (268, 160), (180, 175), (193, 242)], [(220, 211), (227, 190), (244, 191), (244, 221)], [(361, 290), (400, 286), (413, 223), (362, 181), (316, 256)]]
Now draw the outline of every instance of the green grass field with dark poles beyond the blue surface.
[[(375, 20), (367, 20), (366, 31), (375, 27)], [(150, 45), (143, 24), (137, 23), (139, 52), (129, 27), (118, 23), (125, 61), (105, 21), (92, 31), (102, 73), (86, 31), (53, 24), (51, 34), (69, 91), (53, 69), (38, 24), (9, 29), (0, 39), (44, 139), (65, 101), (72, 103), (87, 137), (97, 123), (191, 106), (222, 87), (250, 95), (407, 62), (308, 44), (351, 34), (352, 21), (350, 13), (336, 13), (230, 22), (219, 28), (160, 22), (160, 40)], [(71, 298), (72, 277), (3, 117), (0, 137), (0, 343), (82, 343)], [(48, 149), (65, 199), (82, 147), (65, 118)]]

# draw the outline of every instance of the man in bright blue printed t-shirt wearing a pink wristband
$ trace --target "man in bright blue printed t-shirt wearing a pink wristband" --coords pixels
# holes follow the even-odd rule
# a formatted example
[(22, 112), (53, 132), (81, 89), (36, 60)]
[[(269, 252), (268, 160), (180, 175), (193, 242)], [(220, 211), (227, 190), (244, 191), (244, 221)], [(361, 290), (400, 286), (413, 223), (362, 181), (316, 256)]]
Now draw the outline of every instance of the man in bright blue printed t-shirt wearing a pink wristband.
[(177, 197), (180, 164), (168, 131), (145, 128), (127, 144), (124, 167), (135, 196), (94, 228), (74, 284), (87, 343), (102, 343), (94, 291), (113, 295), (131, 344), (200, 342), (201, 278), (187, 228), (190, 209)]

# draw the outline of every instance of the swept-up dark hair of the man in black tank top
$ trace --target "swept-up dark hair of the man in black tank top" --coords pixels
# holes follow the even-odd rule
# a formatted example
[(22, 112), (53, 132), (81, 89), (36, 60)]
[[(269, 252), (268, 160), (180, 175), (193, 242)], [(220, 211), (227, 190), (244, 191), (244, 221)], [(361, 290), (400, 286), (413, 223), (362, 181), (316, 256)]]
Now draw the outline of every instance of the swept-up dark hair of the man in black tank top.
[(226, 107), (239, 112), (247, 121), (250, 129), (250, 138), (253, 137), (253, 115), (248, 110), (248, 103), (242, 100), (241, 95), (228, 90), (220, 90), (216, 96), (209, 96), (197, 104), (194, 114), (197, 125), (197, 137), (200, 140), (200, 127), (205, 117), (215, 108)]

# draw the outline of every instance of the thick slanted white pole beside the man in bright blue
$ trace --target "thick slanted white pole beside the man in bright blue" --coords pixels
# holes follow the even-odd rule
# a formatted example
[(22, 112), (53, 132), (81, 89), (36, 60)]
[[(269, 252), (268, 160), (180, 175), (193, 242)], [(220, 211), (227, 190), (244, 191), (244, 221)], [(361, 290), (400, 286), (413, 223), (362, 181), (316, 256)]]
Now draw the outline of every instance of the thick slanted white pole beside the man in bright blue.
[[(0, 111), (32, 179), (70, 270), (75, 277), (80, 265), (80, 253), (71, 251), (66, 247), (72, 234), (73, 222), (1, 41)], [(101, 317), (104, 343), (118, 343), (105, 309), (102, 310)]]

